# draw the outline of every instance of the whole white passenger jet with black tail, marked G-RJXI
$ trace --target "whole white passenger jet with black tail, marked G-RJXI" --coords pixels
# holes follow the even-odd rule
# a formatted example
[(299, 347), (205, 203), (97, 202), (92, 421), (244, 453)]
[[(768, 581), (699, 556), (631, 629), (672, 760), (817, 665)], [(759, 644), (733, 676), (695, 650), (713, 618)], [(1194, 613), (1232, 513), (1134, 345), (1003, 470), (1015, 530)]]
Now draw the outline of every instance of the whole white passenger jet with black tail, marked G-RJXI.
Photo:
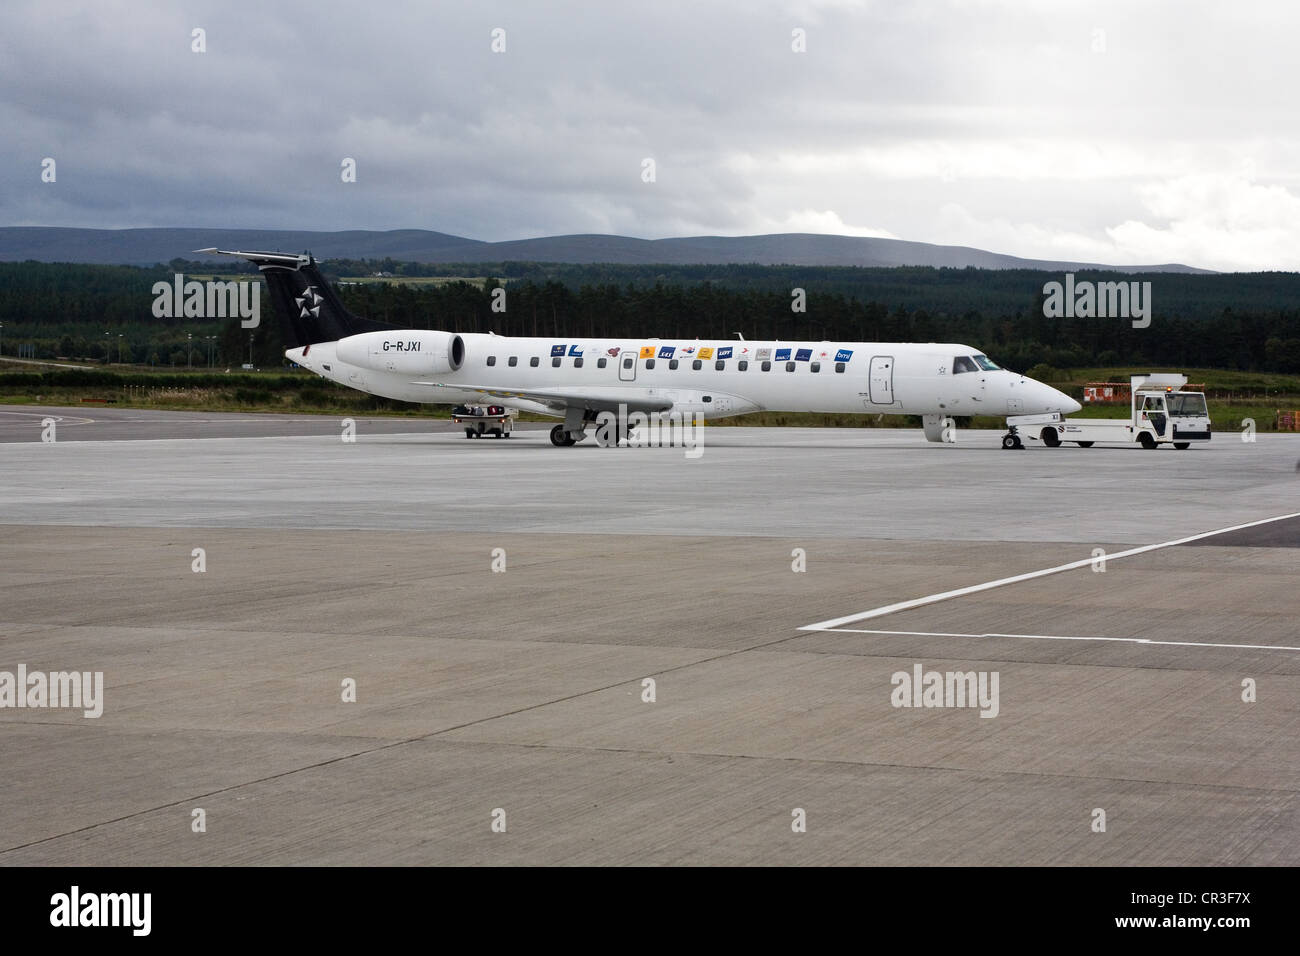
[[(498, 399), (563, 419), (551, 442), (572, 446), (606, 412), (755, 411), (919, 415), (928, 441), (952, 441), (953, 416), (1060, 421), (1082, 407), (1062, 392), (1000, 368), (978, 349), (937, 342), (757, 342), (633, 337), (526, 338), (404, 329), (350, 312), (316, 259), (200, 248), (254, 263), (283, 324), (285, 356), (324, 378), (402, 402)], [(624, 425), (619, 425), (623, 429)], [(595, 429), (597, 442), (625, 434)], [(604, 440), (602, 441), (602, 434)]]

